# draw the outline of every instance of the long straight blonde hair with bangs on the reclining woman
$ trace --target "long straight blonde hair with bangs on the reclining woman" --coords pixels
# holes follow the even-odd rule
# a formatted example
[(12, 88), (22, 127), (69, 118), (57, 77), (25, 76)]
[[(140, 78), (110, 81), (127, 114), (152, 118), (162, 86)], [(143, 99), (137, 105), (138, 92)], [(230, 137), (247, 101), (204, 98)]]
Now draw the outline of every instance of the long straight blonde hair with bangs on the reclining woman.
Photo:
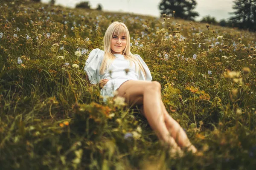
[[(104, 38), (102, 43), (104, 43), (104, 58), (102, 61), (102, 65), (99, 70), (99, 74), (104, 74), (105, 70), (108, 69), (109, 65), (113, 62), (115, 59), (115, 56), (111, 52), (111, 39), (113, 35), (119, 36), (120, 34), (125, 34), (127, 37), (127, 43), (125, 49), (122, 51), (122, 55), (124, 55), (125, 59), (130, 60), (130, 66), (132, 65), (131, 62), (134, 62), (136, 72), (139, 73), (140, 70), (143, 71), (144, 76), (145, 70), (143, 68), (142, 63), (140, 60), (133, 54), (131, 54), (131, 42), (130, 42), (130, 34), (128, 31), (128, 28), (125, 26), (124, 23), (121, 22), (113, 22), (108, 26), (107, 31), (105, 32)], [(138, 67), (139, 66), (139, 67)]]

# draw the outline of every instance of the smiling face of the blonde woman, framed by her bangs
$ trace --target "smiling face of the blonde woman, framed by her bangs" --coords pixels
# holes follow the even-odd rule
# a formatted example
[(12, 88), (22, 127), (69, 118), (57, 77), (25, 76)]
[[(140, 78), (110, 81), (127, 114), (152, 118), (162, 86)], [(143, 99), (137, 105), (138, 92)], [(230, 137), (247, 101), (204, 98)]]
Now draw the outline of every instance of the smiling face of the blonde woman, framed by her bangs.
[(111, 52), (112, 54), (122, 54), (127, 43), (127, 37), (125, 34), (113, 35), (111, 38)]

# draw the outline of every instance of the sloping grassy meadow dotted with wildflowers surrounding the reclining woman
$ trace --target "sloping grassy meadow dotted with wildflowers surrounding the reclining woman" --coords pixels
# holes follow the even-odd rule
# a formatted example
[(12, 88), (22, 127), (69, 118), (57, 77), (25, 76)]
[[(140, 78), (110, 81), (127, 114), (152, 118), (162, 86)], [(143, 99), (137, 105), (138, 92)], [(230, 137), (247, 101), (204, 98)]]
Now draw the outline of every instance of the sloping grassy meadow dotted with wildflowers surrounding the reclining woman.
[[(203, 153), (170, 155), (85, 61), (113, 21), (130, 31), (169, 114)], [(1, 170), (249, 170), (256, 166), (256, 33), (207, 23), (0, 3)]]

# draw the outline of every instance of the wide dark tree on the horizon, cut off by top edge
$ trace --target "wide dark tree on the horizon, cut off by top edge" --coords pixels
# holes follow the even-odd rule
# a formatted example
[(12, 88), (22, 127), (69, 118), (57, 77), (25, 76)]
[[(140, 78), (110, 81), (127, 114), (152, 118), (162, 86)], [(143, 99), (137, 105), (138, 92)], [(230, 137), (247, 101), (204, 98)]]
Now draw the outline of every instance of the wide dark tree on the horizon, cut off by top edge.
[(197, 5), (195, 0), (162, 0), (159, 5), (161, 16), (163, 14), (172, 14), (185, 20), (195, 20), (199, 14), (192, 11)]

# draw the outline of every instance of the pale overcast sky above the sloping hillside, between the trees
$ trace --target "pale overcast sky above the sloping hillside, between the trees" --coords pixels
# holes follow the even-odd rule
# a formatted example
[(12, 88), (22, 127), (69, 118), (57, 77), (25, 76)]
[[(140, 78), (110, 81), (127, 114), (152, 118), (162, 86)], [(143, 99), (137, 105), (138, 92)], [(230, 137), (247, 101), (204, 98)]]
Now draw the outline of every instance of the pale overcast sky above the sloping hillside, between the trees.
[[(49, 0), (41, 0), (44, 3)], [(56, 4), (74, 8), (81, 1), (89, 1), (91, 8), (96, 8), (100, 3), (103, 11), (123, 11), (133, 12), (134, 14), (160, 16), (158, 5), (162, 0), (56, 0)], [(230, 17), (228, 12), (232, 12), (233, 0), (196, 0), (195, 11), (199, 17), (195, 20), (201, 20), (202, 17), (210, 15), (216, 20), (227, 19)]]

